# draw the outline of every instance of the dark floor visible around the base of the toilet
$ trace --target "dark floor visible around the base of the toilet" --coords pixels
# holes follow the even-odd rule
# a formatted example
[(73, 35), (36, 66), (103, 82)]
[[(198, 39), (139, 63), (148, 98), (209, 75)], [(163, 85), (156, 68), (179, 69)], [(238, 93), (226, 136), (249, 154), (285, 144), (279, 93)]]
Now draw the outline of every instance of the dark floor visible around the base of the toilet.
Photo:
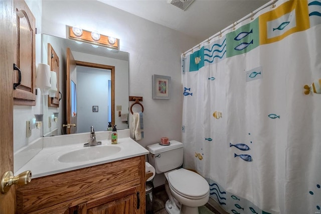
[[(152, 202), (151, 204), (148, 202), (146, 203), (146, 214), (168, 214), (168, 212), (165, 209), (165, 203), (168, 200), (167, 193), (165, 191), (164, 186), (156, 187), (154, 188), (152, 192)], [(147, 195), (146, 195), (147, 197)], [(151, 205), (151, 206), (150, 206)], [(212, 207), (209, 204), (205, 204), (205, 207), (202, 207), (199, 209), (200, 214), (221, 214), (219, 211), (217, 211), (214, 207)]]

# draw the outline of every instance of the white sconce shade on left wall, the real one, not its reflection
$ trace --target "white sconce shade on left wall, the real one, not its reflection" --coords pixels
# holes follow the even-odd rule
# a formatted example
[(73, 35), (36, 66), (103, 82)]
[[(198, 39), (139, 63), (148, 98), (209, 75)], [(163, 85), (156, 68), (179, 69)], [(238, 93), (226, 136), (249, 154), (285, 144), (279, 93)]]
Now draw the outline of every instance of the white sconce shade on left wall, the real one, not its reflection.
[(39, 63), (36, 75), (36, 87), (40, 88), (42, 95), (49, 94), (50, 84), (50, 67), (47, 64)]

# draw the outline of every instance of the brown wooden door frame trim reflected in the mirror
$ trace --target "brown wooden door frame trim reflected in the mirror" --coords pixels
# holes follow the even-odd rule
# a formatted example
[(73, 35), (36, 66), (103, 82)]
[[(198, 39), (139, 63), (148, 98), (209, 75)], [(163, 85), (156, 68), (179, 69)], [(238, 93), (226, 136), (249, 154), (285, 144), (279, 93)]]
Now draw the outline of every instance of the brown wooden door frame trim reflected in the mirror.
[(83, 62), (83, 61), (77, 61), (77, 60), (76, 60), (76, 65), (110, 70), (111, 72), (111, 124), (115, 125), (115, 66), (96, 64), (91, 62)]

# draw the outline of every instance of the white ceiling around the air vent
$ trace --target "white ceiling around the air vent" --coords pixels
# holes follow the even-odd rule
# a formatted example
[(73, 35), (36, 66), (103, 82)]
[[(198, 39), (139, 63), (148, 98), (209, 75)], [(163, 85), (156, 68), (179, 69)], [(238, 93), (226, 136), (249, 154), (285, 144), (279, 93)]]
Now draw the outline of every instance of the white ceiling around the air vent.
[(194, 37), (198, 42), (218, 33), (267, 0), (195, 0), (183, 11), (168, 0), (98, 0), (141, 18)]

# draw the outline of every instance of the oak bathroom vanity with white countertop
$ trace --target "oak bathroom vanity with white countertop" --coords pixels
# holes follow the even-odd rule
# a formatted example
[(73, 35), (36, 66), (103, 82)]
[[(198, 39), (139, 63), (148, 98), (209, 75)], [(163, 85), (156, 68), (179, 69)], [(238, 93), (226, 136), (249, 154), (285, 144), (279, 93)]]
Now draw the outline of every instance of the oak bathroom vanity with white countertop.
[[(86, 134), (68, 135), (64, 140), (70, 138), (77, 142), (77, 138), (84, 138)], [(97, 132), (97, 140), (106, 139), (108, 134), (110, 132)], [(109, 137), (95, 148), (83, 148), (83, 143), (53, 145), (53, 142), (62, 144), (59, 140), (63, 137), (44, 138), (47, 142), (42, 142), (40, 152), (16, 172), (29, 168), (36, 177), (28, 185), (18, 186), (18, 213), (145, 213), (147, 150), (126, 137), (119, 139), (116, 146), (120, 150), (115, 150), (115, 154), (100, 157), (97, 153), (98, 159), (86, 160), (86, 155), (79, 152), (112, 148)], [(59, 159), (75, 152), (84, 161), (76, 156)]]

